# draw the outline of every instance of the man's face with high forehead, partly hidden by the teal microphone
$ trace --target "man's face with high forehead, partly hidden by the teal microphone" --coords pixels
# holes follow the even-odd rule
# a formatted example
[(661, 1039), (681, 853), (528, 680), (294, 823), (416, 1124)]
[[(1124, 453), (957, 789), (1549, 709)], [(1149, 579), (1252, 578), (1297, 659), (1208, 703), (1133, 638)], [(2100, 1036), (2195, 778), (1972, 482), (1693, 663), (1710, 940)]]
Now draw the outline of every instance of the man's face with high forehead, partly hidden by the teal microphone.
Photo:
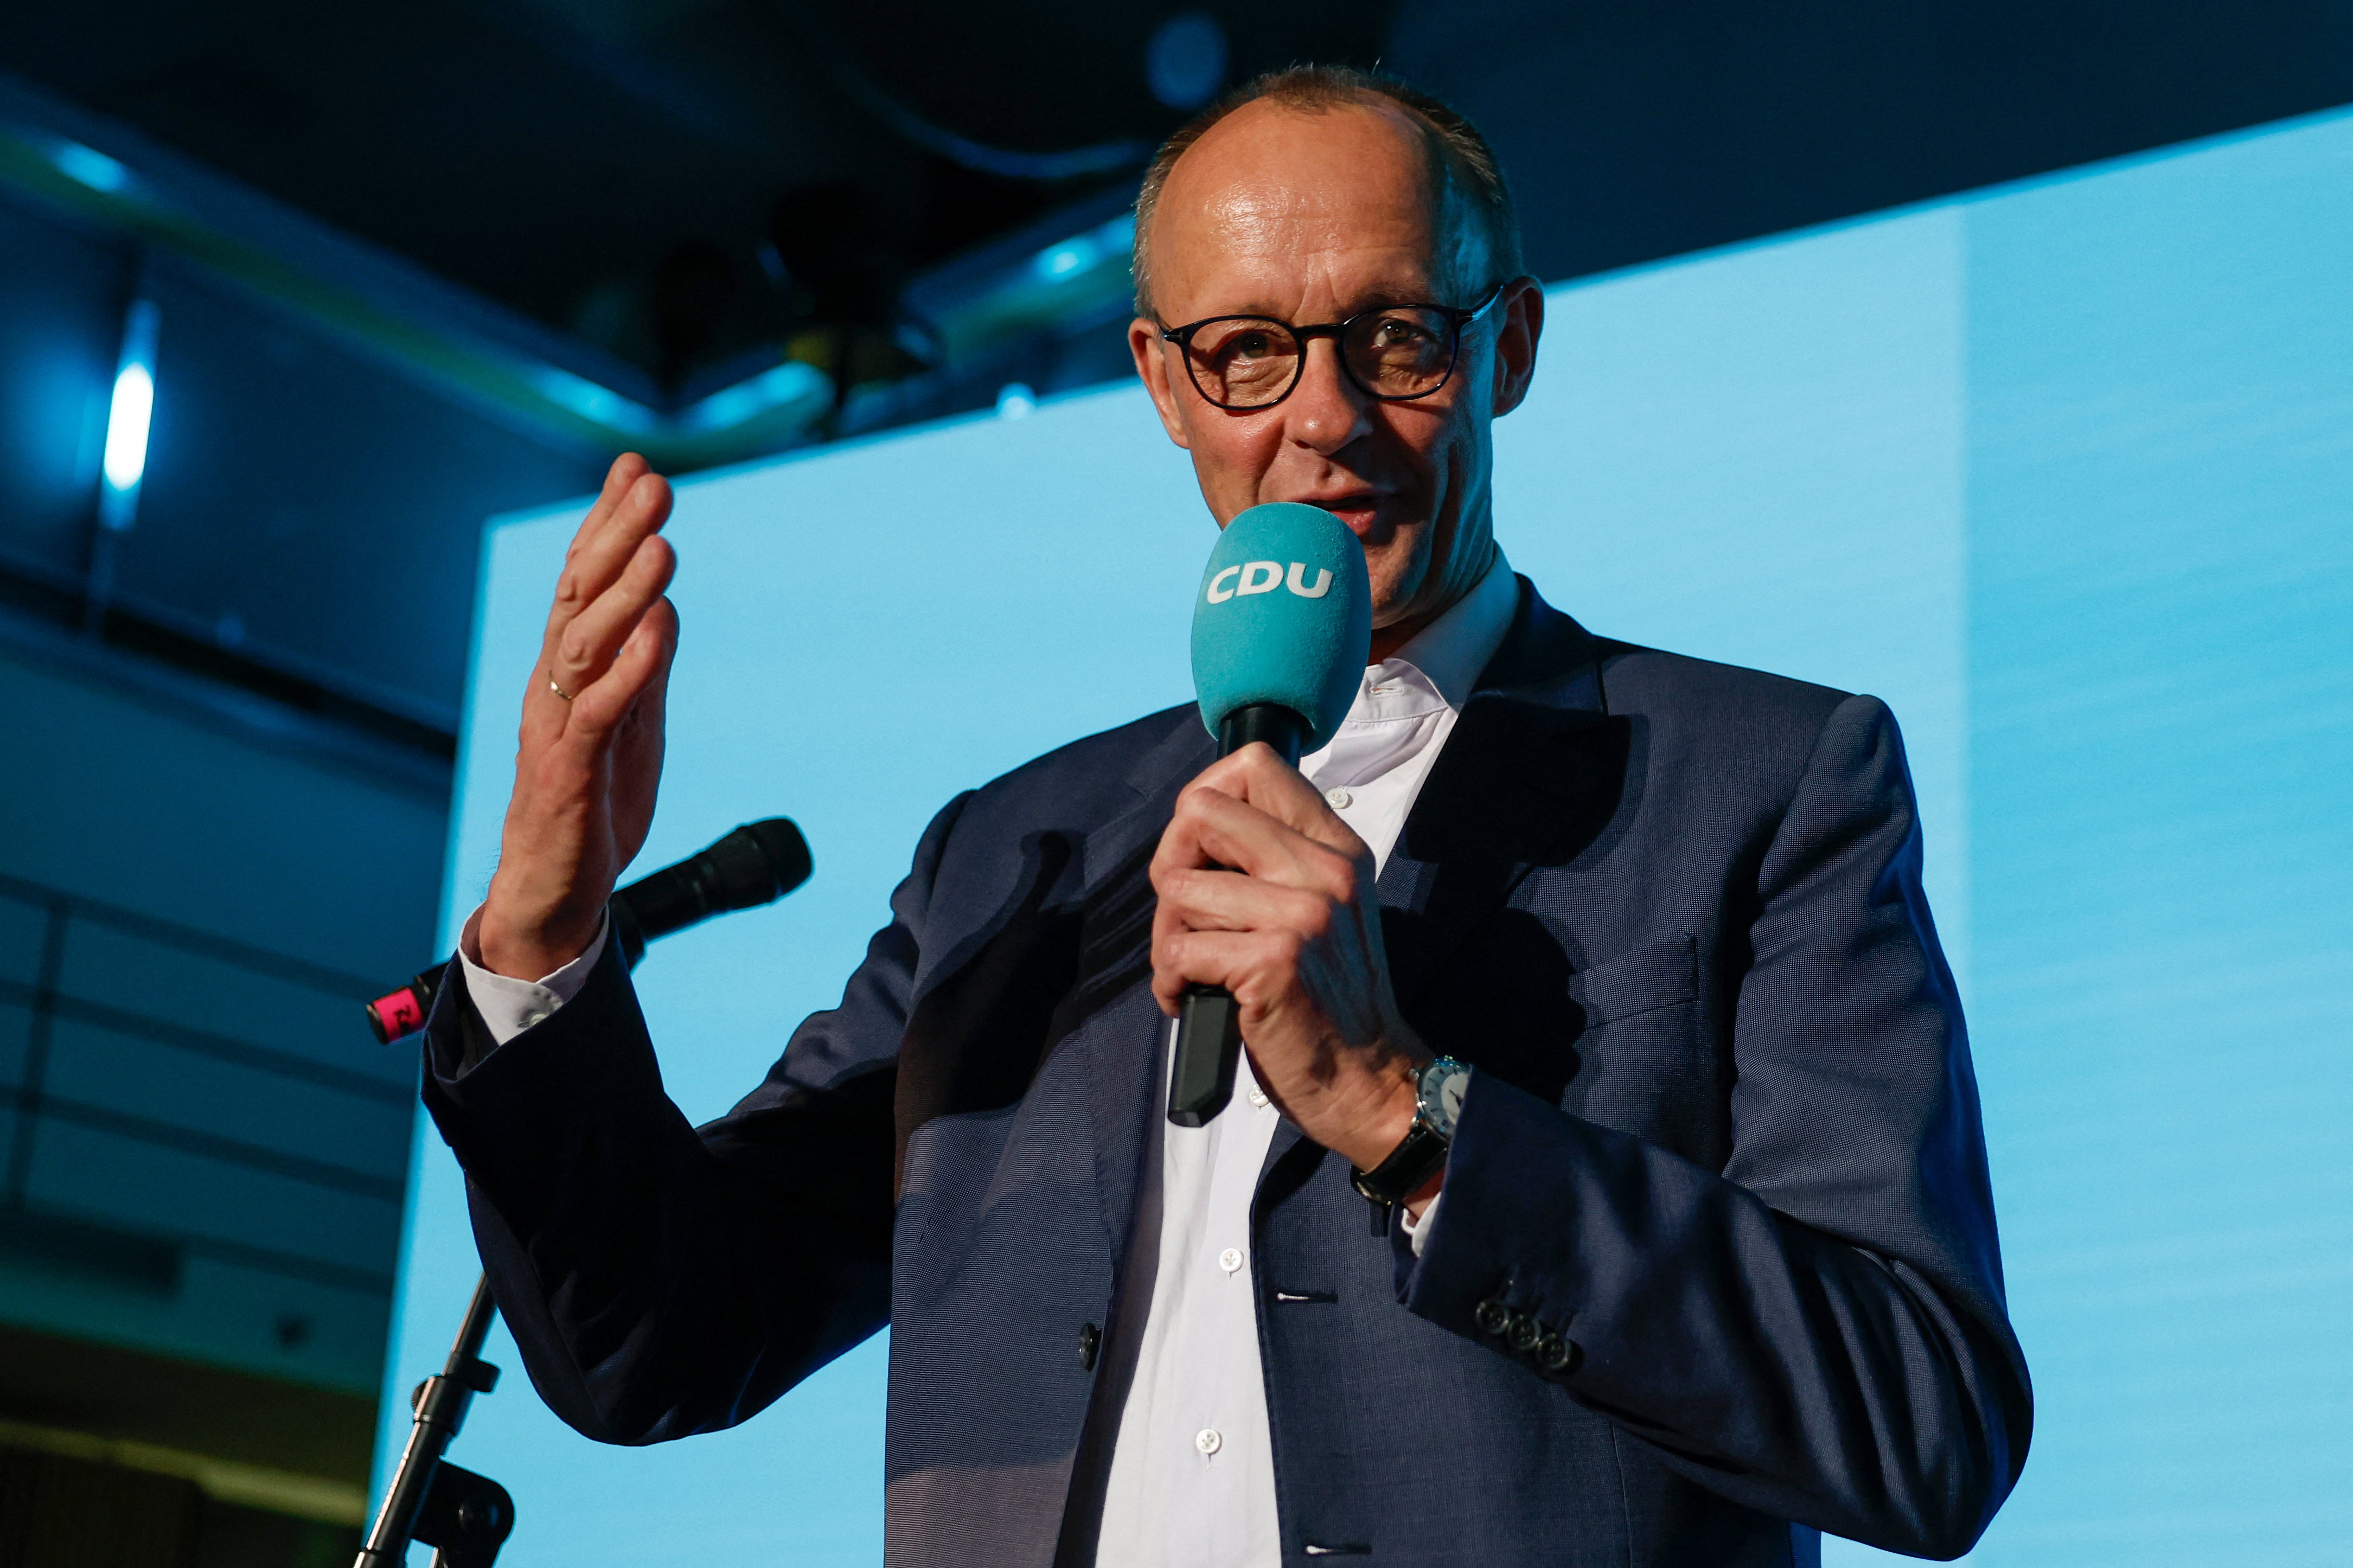
[[(1311, 325), (1384, 304), (1473, 306), (1497, 278), (1440, 200), (1402, 111), (1249, 104), (1169, 172), (1151, 231), (1153, 308), (1179, 327), (1205, 315)], [(1381, 657), (1487, 570), (1489, 424), (1527, 391), (1541, 323), (1544, 294), (1515, 280), (1464, 330), (1454, 377), (1414, 403), (1362, 393), (1332, 339), (1308, 344), (1289, 398), (1249, 412), (1202, 398), (1158, 323), (1139, 318), (1129, 348), (1169, 438), (1193, 452), (1219, 527), (1261, 501), (1308, 501), (1362, 539)]]

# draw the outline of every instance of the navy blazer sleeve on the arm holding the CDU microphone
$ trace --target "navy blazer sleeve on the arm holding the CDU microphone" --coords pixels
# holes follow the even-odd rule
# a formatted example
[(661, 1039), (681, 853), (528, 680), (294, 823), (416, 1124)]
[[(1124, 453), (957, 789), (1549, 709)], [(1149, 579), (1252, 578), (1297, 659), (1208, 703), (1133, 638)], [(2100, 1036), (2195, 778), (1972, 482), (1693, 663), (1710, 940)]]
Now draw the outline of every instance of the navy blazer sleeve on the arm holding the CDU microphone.
[[(1473, 1074), (1402, 1300), (1725, 1497), (1960, 1556), (2026, 1462), (2033, 1396), (1904, 746), (1875, 697), (1814, 742), (1751, 951), (1727, 1165)], [(1558, 1370), (1541, 1337), (1513, 1349), (1529, 1328), (1560, 1335)]]

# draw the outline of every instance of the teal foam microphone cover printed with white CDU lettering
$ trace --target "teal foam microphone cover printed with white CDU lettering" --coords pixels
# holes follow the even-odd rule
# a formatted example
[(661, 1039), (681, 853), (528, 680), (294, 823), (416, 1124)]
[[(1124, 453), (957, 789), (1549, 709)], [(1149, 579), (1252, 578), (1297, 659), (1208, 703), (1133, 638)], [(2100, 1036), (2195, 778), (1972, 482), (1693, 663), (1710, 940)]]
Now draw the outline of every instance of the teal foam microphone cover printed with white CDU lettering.
[(1193, 598), (1193, 690), (1209, 735), (1226, 713), (1271, 702), (1308, 720), (1301, 751), (1325, 746), (1369, 652), (1372, 582), (1346, 523), (1268, 501), (1226, 525)]

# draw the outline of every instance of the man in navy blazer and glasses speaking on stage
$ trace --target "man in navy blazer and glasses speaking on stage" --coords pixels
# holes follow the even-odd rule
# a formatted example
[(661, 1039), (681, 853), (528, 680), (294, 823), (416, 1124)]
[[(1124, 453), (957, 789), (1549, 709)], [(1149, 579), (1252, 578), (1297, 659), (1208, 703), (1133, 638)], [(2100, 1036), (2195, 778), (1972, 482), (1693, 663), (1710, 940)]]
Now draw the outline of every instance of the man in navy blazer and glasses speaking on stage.
[[(842, 1005), (696, 1132), (602, 939), (675, 645), (668, 492), (614, 464), (428, 1026), (534, 1384), (685, 1436), (887, 1318), (894, 1563), (1965, 1552), (2031, 1396), (1887, 709), (1513, 579), (1489, 424), (1544, 297), (1442, 106), (1221, 104), (1136, 283), (1214, 518), (1362, 539), (1348, 723), (1294, 770), (1172, 709), (951, 800)], [(1200, 1130), (1162, 1118), (1188, 984), (1249, 1048)]]

